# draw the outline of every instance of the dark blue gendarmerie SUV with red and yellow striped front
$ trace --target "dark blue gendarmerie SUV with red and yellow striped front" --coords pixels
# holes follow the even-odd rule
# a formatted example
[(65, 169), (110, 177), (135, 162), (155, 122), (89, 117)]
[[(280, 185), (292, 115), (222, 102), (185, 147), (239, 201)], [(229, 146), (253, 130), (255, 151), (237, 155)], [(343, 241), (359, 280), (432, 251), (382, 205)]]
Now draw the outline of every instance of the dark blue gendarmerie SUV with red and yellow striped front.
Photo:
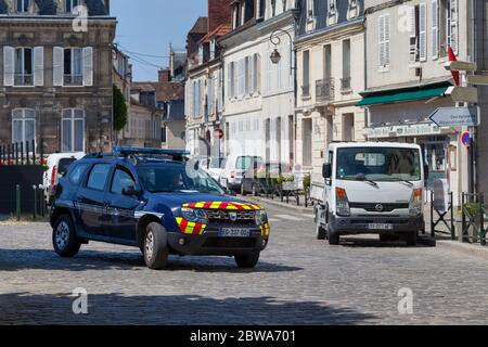
[(151, 269), (169, 254), (233, 256), (254, 268), (268, 244), (266, 211), (227, 195), (187, 155), (117, 146), (73, 163), (51, 208), (55, 252), (74, 257), (100, 241), (139, 247)]

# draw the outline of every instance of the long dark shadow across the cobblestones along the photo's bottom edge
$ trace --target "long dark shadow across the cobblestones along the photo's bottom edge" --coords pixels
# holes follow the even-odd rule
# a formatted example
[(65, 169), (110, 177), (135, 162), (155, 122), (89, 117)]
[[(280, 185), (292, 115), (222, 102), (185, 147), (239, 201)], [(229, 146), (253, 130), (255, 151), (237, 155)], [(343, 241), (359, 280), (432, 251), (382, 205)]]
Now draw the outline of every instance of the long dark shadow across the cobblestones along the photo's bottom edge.
[(74, 314), (76, 297), (0, 295), (0, 324), (358, 324), (372, 314), (316, 301), (272, 297), (124, 296), (88, 293), (88, 314)]

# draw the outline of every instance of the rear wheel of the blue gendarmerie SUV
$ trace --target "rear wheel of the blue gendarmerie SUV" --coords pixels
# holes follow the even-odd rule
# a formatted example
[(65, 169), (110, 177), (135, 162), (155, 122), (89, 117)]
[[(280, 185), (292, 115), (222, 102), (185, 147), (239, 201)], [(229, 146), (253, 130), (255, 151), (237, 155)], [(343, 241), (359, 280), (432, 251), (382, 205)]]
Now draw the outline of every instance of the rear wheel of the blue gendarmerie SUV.
[(52, 245), (60, 257), (72, 258), (78, 254), (81, 242), (68, 215), (62, 215), (56, 219), (52, 230)]

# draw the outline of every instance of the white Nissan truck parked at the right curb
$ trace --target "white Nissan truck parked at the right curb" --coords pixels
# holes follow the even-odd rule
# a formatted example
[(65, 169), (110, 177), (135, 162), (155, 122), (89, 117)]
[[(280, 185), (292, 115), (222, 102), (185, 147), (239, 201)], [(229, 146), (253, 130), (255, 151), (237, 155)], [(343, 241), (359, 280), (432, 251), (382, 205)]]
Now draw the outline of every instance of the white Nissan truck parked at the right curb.
[(425, 229), (428, 168), (421, 147), (406, 143), (332, 143), (323, 165), (323, 198), (316, 207), (317, 239), (380, 234), (416, 245)]

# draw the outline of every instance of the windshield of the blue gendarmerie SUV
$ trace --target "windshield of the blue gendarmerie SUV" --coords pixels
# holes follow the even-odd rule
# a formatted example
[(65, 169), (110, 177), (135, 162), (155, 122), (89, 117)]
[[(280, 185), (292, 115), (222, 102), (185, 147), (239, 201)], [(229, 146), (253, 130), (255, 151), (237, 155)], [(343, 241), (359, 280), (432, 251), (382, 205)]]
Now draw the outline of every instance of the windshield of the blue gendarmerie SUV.
[(185, 165), (144, 165), (138, 170), (145, 188), (152, 193), (224, 193), (207, 172), (187, 169)]

